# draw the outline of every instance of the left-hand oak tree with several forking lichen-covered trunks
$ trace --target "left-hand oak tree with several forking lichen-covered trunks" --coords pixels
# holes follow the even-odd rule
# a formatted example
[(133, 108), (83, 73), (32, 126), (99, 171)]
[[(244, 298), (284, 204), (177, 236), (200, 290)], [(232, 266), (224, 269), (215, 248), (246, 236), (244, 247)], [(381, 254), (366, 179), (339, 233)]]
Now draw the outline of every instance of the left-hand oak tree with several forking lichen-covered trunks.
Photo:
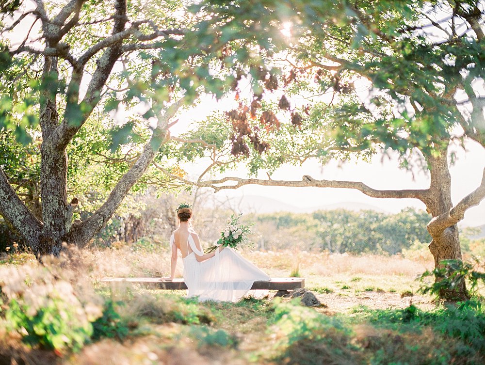
[[(250, 5), (233, 17), (210, 1), (1, 6), (0, 214), (36, 254), (84, 246), (134, 186), (170, 183), (150, 166), (176, 115), (221, 98), (277, 32)], [(74, 220), (88, 193), (93, 210)]]

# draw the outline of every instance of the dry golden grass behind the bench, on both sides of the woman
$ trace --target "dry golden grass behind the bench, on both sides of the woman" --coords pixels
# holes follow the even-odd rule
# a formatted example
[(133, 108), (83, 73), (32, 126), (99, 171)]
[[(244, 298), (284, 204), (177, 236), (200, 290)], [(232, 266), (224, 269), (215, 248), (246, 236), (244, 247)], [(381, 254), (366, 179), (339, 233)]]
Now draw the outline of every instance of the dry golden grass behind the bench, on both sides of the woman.
[[(69, 255), (70, 270), (64, 270), (63, 276), (78, 286), (80, 292), (92, 291), (93, 282), (99, 287), (99, 280), (104, 277), (162, 277), (170, 272), (168, 244), (145, 247), (120, 242), (113, 248), (71, 249)], [(405, 291), (416, 293), (420, 287), (416, 278), (433, 268), (432, 256), (425, 249), (408, 252), (405, 257), (314, 253), (295, 249), (243, 251), (242, 255), (272, 277), (288, 277), (297, 271), (300, 277), (305, 278), (307, 288), (334, 296), (353, 296), (365, 291), (385, 291), (398, 296)], [(10, 259), (10, 265), (14, 265), (15, 261)], [(36, 260), (28, 259), (24, 254), (21, 262), (33, 267), (38, 265)], [(182, 270), (179, 258), (178, 277), (182, 276)], [(113, 292), (121, 292), (127, 287), (127, 284), (118, 284), (113, 286), (116, 289)], [(184, 294), (183, 291), (178, 293)], [(348, 307), (349, 304), (345, 304), (345, 308)]]

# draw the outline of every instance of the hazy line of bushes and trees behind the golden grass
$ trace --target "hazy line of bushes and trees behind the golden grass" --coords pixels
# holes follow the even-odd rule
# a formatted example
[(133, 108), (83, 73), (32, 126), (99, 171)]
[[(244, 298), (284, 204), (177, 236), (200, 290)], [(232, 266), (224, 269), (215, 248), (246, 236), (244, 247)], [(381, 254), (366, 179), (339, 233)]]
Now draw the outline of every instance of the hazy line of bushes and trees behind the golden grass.
[[(115, 216), (93, 239), (92, 245), (109, 247), (115, 242), (165, 242), (176, 228), (175, 216), (166, 209), (162, 214), (156, 206), (146, 206), (138, 212)], [(224, 224), (224, 209), (204, 215), (213, 220), (198, 220), (195, 229), (205, 242), (218, 238), (216, 222)], [(215, 221), (215, 222), (214, 222)], [(429, 215), (422, 210), (405, 208), (396, 214), (373, 210), (319, 210), (313, 213), (277, 212), (247, 214), (243, 221), (253, 223), (251, 236), (258, 250), (298, 249), (349, 254), (398, 254), (413, 244), (429, 244), (426, 231)], [(14, 242), (22, 242), (20, 235), (9, 229), (0, 218), (0, 250)]]

